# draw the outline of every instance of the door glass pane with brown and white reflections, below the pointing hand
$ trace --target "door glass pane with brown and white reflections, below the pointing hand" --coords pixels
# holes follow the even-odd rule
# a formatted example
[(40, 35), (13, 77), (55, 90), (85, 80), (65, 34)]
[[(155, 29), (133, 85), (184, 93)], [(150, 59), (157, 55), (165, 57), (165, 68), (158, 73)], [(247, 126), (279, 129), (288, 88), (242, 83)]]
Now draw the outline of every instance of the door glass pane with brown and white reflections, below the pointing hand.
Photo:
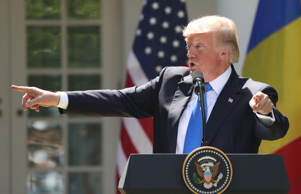
[(56, 122), (29, 122), (27, 128), (29, 167), (57, 167), (64, 163), (62, 127)]

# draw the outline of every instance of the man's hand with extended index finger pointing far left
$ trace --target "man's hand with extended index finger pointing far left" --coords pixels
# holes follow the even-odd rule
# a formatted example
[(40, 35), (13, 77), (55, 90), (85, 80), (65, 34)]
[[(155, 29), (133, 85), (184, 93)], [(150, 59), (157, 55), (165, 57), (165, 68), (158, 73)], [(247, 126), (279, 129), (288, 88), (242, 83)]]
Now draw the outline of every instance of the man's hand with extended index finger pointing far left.
[(42, 90), (36, 87), (24, 87), (24, 86), (11, 86), (12, 89), (25, 92), (26, 94), (22, 98), (22, 106), (24, 111), (27, 108), (34, 109), (39, 112), (39, 105), (41, 106), (56, 106), (60, 102), (60, 94)]

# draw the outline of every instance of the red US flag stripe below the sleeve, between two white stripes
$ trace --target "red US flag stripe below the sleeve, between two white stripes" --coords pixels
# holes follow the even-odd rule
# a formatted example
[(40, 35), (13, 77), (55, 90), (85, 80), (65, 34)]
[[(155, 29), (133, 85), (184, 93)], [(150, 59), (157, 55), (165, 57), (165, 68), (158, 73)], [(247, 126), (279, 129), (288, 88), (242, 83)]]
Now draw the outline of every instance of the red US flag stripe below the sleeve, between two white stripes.
[(121, 122), (120, 141), (126, 158), (129, 158), (130, 154), (138, 154), (135, 146), (132, 144), (132, 141), (126, 131), (126, 128), (123, 125), (123, 122)]

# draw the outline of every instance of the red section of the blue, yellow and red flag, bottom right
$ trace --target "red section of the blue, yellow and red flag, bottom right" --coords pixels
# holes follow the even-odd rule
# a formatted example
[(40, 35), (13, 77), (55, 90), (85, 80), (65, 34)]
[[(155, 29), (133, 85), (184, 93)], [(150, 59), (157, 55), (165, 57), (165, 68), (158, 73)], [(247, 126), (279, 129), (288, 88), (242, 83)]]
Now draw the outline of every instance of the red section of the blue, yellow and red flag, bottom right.
[(301, 174), (301, 137), (290, 142), (288, 145), (274, 152), (273, 154), (282, 154), (290, 181), (290, 194), (300, 193), (300, 174)]

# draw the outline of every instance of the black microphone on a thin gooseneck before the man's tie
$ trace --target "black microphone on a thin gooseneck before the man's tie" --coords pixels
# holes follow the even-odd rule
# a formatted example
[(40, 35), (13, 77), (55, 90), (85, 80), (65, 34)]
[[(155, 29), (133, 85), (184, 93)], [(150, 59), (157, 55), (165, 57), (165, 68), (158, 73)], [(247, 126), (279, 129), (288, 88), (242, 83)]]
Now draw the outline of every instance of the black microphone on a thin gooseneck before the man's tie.
[[(199, 97), (200, 110), (202, 112), (202, 123), (203, 123), (203, 140), (202, 146), (206, 146), (206, 114), (205, 114), (205, 104), (204, 104), (204, 94), (206, 92), (206, 86), (204, 84), (204, 75), (201, 71), (196, 70), (192, 73), (192, 83), (194, 86), (194, 93)], [(203, 94), (203, 95), (200, 95)]]

